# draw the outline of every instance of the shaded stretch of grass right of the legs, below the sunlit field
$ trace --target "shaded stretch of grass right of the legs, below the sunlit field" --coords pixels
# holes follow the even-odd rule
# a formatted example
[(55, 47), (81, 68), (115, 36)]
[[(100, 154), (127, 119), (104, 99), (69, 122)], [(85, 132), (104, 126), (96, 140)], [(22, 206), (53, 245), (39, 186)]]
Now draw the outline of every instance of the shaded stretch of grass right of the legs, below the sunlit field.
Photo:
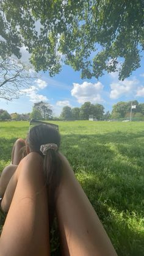
[(62, 152), (121, 256), (144, 255), (143, 137), (119, 132), (62, 136)]

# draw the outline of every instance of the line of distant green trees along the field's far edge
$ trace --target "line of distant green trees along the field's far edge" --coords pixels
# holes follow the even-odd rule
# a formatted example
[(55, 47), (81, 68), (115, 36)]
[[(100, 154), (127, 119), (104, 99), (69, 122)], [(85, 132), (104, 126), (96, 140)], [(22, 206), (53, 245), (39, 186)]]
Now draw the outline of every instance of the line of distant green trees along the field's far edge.
[(89, 101), (82, 104), (81, 108), (70, 108), (64, 106), (60, 117), (52, 115), (51, 106), (48, 103), (40, 101), (34, 103), (31, 113), (9, 114), (4, 109), (0, 109), (0, 120), (88, 120), (89, 115), (93, 115), (96, 120), (109, 120), (109, 119), (129, 119), (131, 112), (131, 105), (135, 106), (132, 109), (132, 117), (144, 119), (144, 103), (139, 103), (137, 100), (124, 102), (120, 101), (112, 107), (112, 113), (107, 111), (104, 113), (104, 106), (101, 104), (92, 104)]

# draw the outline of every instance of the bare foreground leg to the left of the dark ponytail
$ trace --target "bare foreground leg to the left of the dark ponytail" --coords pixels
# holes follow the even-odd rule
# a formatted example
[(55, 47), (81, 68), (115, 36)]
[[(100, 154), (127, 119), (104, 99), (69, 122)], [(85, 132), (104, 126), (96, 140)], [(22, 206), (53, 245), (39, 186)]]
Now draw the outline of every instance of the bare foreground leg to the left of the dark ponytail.
[(41, 156), (30, 153), (13, 175), (17, 185), (0, 238), (2, 256), (49, 255), (48, 197), (42, 169)]

